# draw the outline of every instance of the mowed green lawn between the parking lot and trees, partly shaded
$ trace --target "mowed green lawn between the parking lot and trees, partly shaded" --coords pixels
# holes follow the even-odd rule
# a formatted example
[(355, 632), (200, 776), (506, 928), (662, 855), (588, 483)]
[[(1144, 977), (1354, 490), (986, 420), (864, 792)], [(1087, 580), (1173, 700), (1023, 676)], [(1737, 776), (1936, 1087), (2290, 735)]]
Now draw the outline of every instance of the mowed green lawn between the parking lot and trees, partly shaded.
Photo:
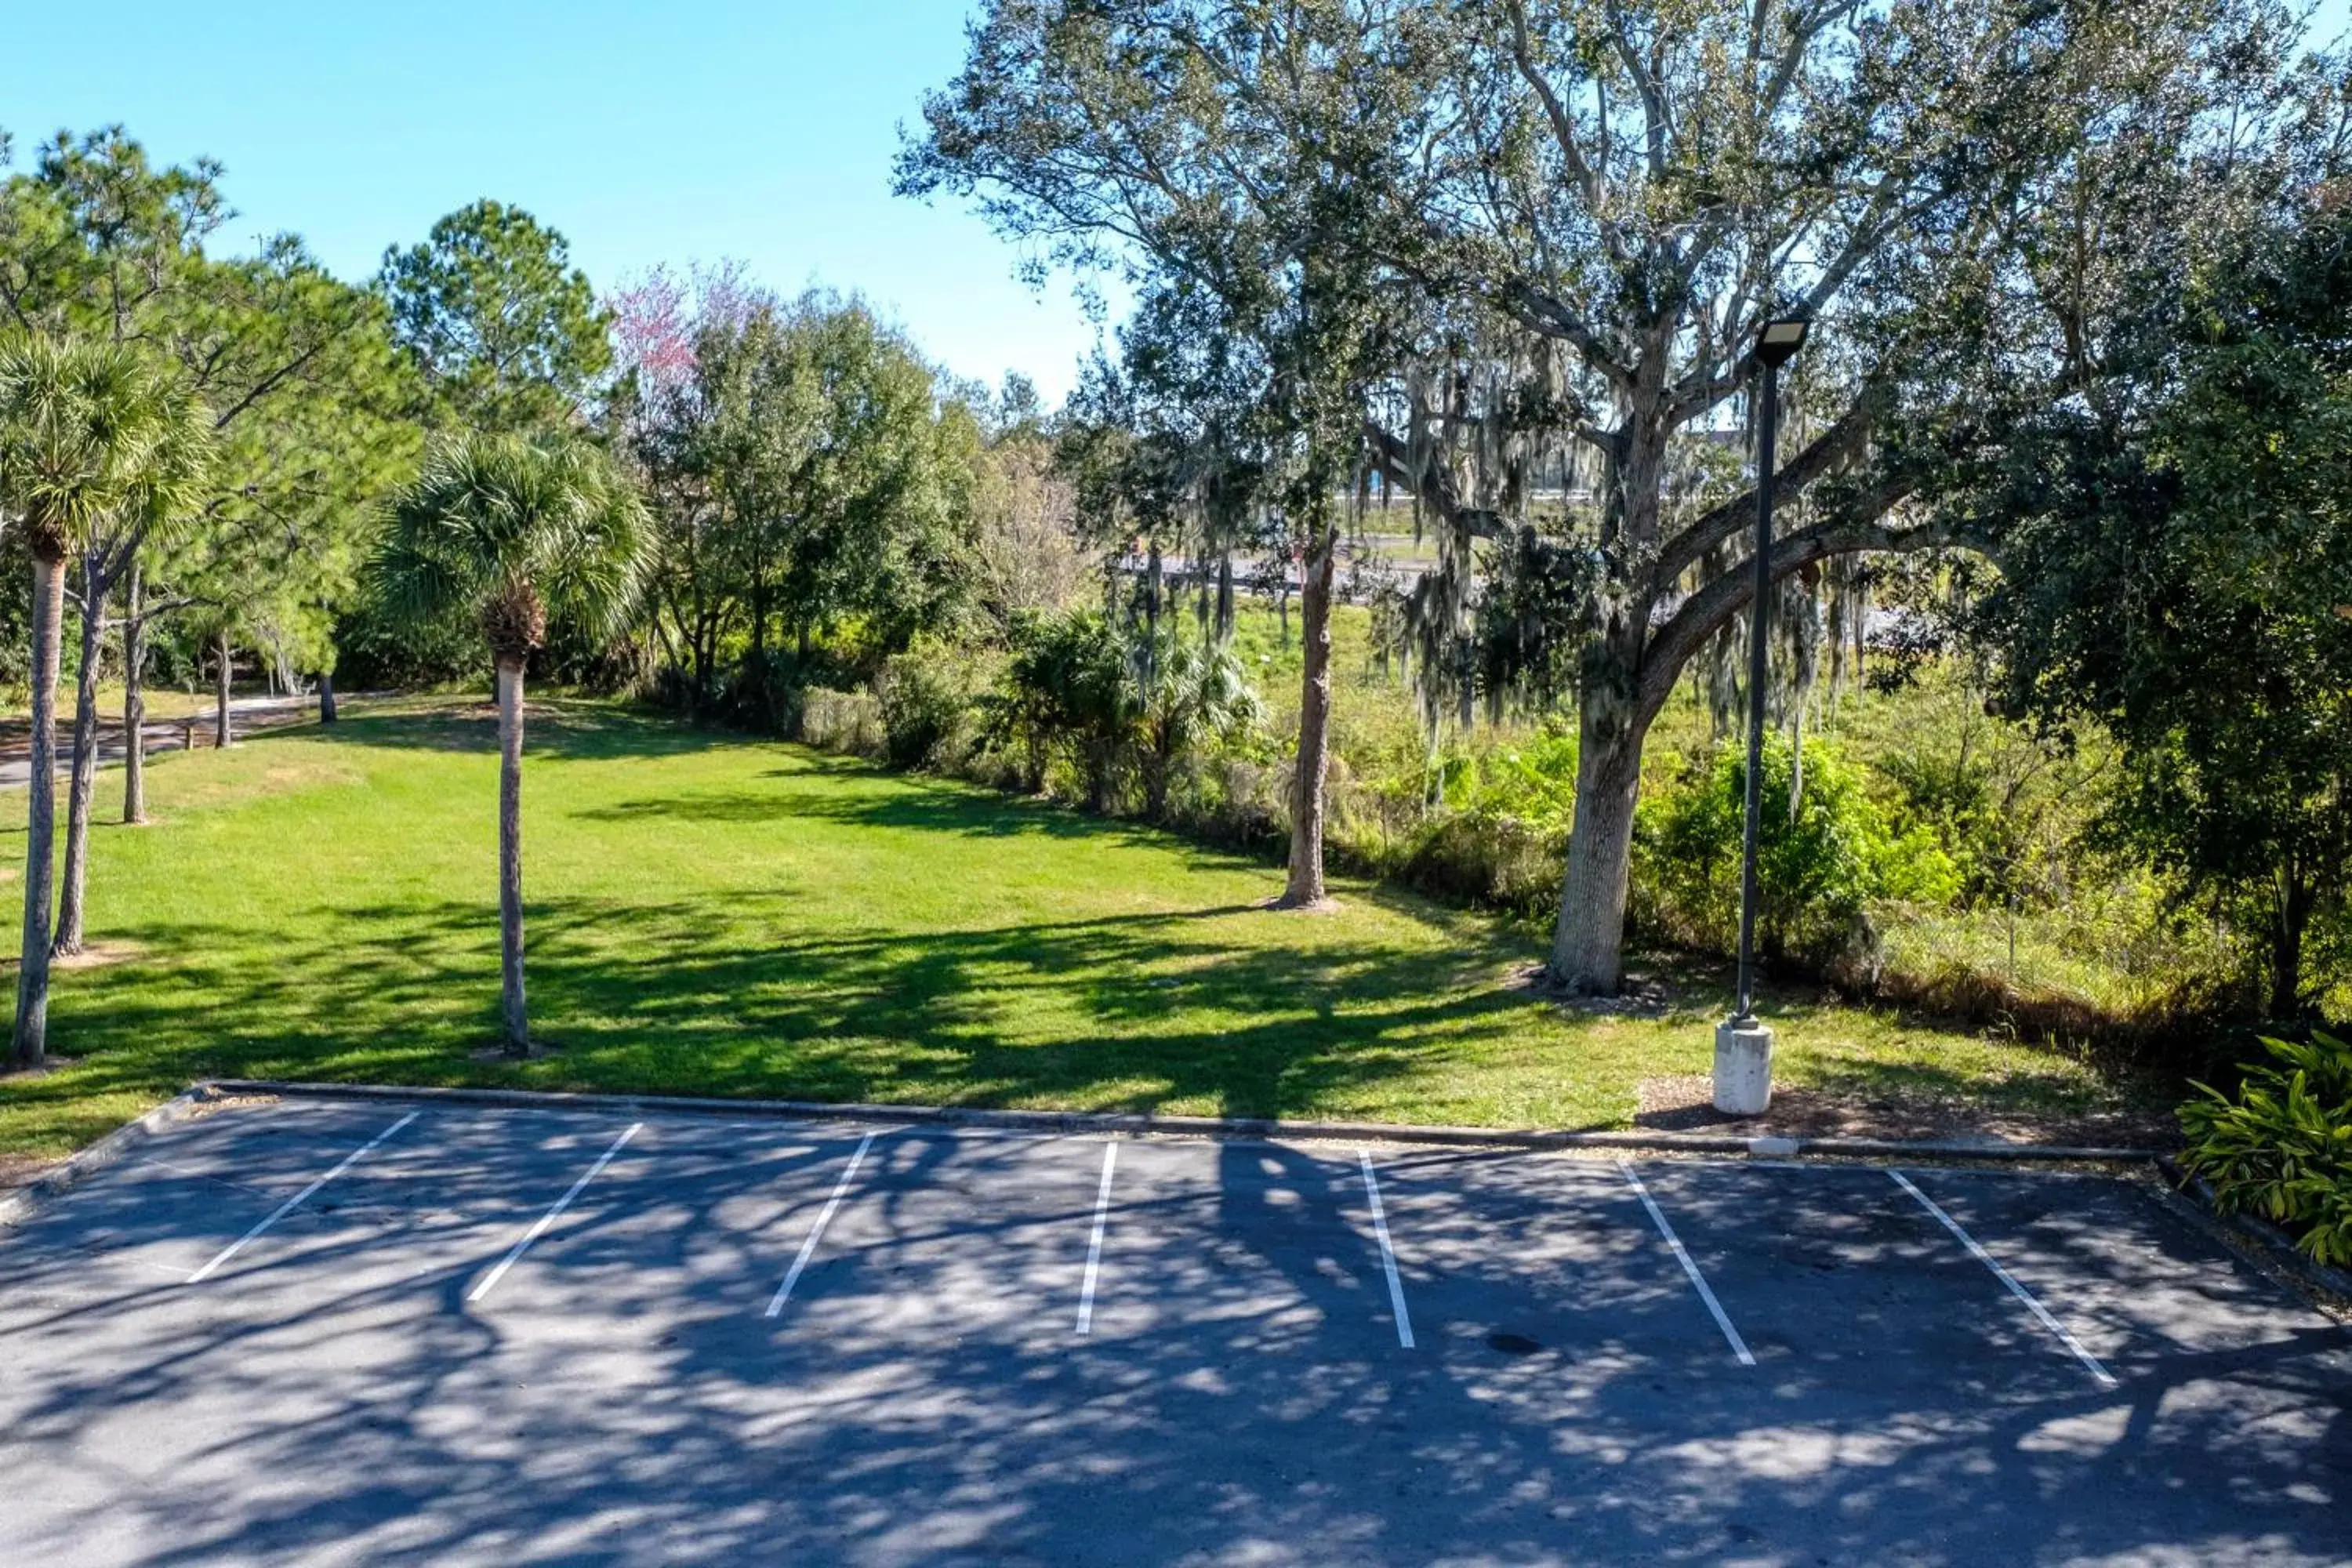
[[(781, 1095), (1494, 1126), (1625, 1126), (1705, 1072), (1724, 997), (1665, 1018), (1519, 987), (1541, 933), (1352, 882), (1275, 914), (1249, 858), (621, 705), (534, 705), (529, 999), (492, 1039), (496, 752), (477, 703), (151, 766), (155, 823), (94, 832), (99, 961), (0, 1079), (0, 1152), (87, 1143), (200, 1077)], [(101, 773), (101, 818), (120, 811)], [(21, 858), (24, 792), (0, 799)], [(14, 884), (21, 870), (9, 870)], [(2042, 1112), (2072, 1060), (1806, 999), (1780, 1081)]]

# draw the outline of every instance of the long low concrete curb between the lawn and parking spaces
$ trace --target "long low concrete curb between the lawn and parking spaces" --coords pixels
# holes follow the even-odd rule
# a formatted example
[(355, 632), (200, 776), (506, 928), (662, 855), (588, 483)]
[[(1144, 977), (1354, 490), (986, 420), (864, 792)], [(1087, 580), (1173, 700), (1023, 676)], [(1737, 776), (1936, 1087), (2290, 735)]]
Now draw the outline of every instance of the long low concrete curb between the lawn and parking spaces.
[(2030, 1143), (1903, 1143), (1886, 1138), (1736, 1138), (1724, 1133), (1571, 1133), (1496, 1126), (1414, 1126), (1395, 1121), (1282, 1121), (1270, 1117), (1143, 1117), (1075, 1110), (976, 1110), (960, 1105), (856, 1105), (823, 1100), (713, 1100), (689, 1095), (597, 1095), (536, 1088), (405, 1088), (397, 1084), (303, 1084), (214, 1079), (188, 1093), (252, 1093), (322, 1100), (421, 1100), (426, 1105), (506, 1105), (517, 1110), (668, 1112), (691, 1117), (797, 1117), (828, 1121), (915, 1121), (1042, 1133), (1174, 1133), (1181, 1138), (1296, 1138), (1331, 1143), (1425, 1143), (1503, 1150), (1625, 1150), (1651, 1154), (1797, 1154), (1849, 1159), (1936, 1159), (1990, 1164), (2147, 1164), (2154, 1150), (2103, 1150)]

